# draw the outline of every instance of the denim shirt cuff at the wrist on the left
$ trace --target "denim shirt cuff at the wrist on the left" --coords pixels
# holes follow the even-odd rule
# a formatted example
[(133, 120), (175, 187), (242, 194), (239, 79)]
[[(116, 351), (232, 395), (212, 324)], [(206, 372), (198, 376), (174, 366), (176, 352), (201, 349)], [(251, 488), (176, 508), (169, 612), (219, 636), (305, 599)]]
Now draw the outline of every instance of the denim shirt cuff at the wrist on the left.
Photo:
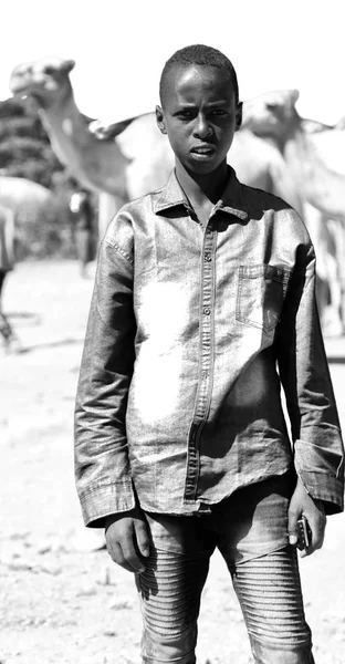
[(104, 528), (106, 518), (134, 509), (136, 499), (132, 483), (92, 487), (80, 495), (82, 513), (88, 528)]

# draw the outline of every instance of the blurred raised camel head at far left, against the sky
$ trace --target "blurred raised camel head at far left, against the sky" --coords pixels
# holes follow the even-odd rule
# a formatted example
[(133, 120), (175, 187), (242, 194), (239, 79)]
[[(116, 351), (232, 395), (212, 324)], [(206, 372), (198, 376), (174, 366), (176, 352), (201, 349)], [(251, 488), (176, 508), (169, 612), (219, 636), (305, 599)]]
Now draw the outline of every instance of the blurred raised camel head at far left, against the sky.
[(73, 60), (43, 58), (24, 62), (14, 68), (10, 77), (10, 90), (20, 97), (32, 96), (43, 108), (63, 104), (72, 96), (69, 74)]

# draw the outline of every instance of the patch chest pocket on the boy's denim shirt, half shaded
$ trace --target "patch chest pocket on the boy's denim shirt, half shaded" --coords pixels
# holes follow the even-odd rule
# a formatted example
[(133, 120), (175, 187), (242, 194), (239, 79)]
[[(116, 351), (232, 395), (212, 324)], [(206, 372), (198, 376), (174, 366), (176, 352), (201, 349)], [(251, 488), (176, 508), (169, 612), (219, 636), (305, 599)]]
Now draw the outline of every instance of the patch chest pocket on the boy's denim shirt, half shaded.
[(269, 333), (280, 321), (291, 271), (275, 266), (240, 266), (236, 318)]

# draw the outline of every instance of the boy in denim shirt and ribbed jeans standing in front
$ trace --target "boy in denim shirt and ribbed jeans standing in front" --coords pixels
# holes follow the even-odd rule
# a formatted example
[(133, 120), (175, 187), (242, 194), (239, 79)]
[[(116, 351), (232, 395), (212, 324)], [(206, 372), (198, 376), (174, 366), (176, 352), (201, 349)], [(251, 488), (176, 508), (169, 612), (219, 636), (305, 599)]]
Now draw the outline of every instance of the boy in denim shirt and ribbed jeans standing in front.
[[(254, 661), (313, 662), (295, 544), (343, 509), (343, 444), (315, 305), (315, 257), (283, 200), (227, 165), (241, 126), (219, 51), (177, 51), (159, 129), (176, 168), (102, 243), (76, 403), (87, 526), (135, 572), (146, 664), (194, 664), (209, 559), (221, 551)], [(291, 421), (291, 445), (280, 388)]]

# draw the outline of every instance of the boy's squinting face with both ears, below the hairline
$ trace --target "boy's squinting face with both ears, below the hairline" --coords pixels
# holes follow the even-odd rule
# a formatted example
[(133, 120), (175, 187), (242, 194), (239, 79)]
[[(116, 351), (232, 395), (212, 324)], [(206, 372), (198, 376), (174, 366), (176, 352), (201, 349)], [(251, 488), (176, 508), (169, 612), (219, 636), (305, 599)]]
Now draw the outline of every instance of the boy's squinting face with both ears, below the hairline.
[(163, 104), (156, 108), (157, 124), (177, 159), (195, 174), (216, 170), (242, 120), (229, 74), (216, 66), (174, 68)]

